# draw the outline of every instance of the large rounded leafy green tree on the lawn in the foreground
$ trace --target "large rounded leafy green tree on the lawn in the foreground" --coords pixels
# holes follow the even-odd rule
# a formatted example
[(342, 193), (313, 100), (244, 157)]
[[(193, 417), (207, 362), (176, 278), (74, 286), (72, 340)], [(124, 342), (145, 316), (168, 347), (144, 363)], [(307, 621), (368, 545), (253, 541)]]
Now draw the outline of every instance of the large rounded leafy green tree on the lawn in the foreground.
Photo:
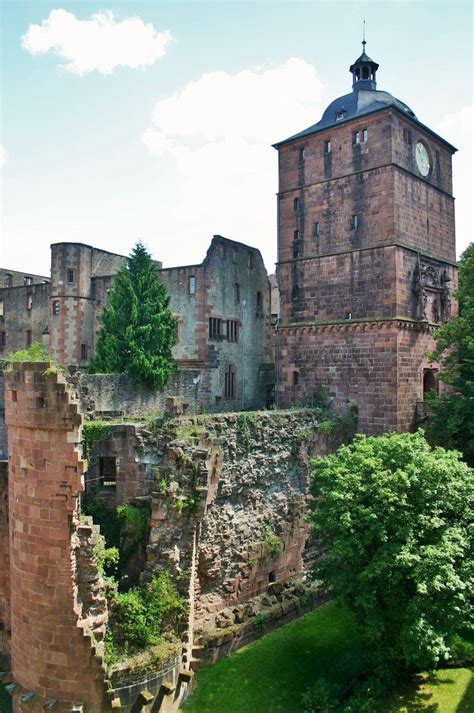
[(312, 462), (316, 576), (362, 625), (373, 670), (429, 668), (472, 625), (474, 471), (422, 431)]

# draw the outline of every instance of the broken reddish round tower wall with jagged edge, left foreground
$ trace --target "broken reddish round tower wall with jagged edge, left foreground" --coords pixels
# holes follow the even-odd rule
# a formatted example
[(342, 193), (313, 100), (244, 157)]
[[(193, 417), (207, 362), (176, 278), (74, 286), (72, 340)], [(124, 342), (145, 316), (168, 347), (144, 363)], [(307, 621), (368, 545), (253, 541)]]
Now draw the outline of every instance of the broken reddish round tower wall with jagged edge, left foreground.
[(82, 701), (92, 713), (107, 705), (106, 610), (86, 554), (92, 531), (79, 522), (81, 416), (63, 377), (47, 368), (14, 364), (6, 374), (11, 691), (15, 713), (39, 713), (54, 701), (61, 712)]

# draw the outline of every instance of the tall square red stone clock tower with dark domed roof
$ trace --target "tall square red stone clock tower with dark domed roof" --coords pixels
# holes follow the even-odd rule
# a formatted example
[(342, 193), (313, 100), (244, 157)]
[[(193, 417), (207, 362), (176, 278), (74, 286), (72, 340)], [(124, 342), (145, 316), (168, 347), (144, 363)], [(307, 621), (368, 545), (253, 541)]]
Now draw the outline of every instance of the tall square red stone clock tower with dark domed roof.
[(427, 351), (455, 287), (456, 149), (376, 89), (365, 52), (352, 92), (279, 153), (279, 403), (323, 385), (366, 433), (413, 427), (437, 387)]

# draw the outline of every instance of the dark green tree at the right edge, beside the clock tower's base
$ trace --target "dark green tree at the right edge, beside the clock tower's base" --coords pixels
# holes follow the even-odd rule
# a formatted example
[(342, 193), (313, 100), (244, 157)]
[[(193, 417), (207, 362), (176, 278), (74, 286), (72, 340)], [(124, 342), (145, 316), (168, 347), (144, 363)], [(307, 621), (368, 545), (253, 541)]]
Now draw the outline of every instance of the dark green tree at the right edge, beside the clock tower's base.
[(440, 379), (455, 393), (432, 396), (426, 435), (431, 443), (458, 448), (474, 466), (474, 243), (459, 263), (459, 315), (434, 334), (432, 359), (441, 362)]

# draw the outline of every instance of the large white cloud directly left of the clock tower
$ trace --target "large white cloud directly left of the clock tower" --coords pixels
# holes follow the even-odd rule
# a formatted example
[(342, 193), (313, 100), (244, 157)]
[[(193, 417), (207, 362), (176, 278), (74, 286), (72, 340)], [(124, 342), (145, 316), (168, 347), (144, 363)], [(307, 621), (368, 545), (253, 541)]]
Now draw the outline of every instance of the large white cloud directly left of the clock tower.
[(165, 208), (175, 245), (190, 232), (204, 243), (221, 233), (260, 248), (272, 268), (278, 168), (271, 143), (316, 123), (320, 98), (315, 68), (293, 58), (204, 74), (157, 102), (143, 141), (160, 160), (176, 161), (181, 194)]

